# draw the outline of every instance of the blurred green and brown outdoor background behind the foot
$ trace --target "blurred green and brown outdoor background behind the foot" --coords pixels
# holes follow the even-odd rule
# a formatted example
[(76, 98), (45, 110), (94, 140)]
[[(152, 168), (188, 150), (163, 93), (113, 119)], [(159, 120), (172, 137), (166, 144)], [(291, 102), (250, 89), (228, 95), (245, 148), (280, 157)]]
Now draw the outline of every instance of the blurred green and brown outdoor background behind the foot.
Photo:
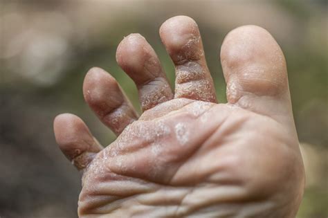
[(275, 37), (286, 55), (307, 170), (298, 218), (328, 216), (327, 1), (0, 0), (1, 218), (77, 217), (80, 174), (57, 148), (53, 118), (75, 113), (100, 143), (111, 143), (114, 135), (84, 103), (84, 75), (92, 66), (109, 71), (139, 107), (115, 53), (124, 36), (140, 33), (174, 84), (158, 28), (175, 15), (199, 24), (221, 102), (226, 84), (219, 48), (228, 31), (256, 24)]

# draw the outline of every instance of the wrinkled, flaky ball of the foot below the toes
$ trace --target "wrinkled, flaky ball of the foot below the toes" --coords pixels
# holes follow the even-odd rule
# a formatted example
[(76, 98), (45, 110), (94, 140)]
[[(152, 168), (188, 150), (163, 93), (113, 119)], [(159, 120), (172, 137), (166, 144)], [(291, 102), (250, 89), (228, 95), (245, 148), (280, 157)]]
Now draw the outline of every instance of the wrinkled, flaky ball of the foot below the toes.
[(146, 111), (88, 167), (81, 217), (295, 216), (302, 159), (293, 126), (183, 98), (158, 109), (166, 113)]

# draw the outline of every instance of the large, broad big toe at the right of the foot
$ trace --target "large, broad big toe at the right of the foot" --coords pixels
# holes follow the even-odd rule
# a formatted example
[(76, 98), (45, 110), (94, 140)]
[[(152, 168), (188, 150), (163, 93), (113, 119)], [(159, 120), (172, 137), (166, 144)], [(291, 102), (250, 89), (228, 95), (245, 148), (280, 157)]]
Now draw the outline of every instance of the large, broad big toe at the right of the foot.
[(266, 115), (291, 112), (286, 62), (264, 28), (232, 30), (221, 46), (228, 102)]

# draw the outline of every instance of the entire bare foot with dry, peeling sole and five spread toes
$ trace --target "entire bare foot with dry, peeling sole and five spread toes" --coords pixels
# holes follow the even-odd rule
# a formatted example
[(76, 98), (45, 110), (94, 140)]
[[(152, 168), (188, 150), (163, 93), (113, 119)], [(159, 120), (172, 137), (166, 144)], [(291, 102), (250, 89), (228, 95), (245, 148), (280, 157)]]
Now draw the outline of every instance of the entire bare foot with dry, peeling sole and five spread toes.
[(172, 17), (160, 31), (176, 69), (174, 92), (152, 47), (125, 37), (116, 59), (134, 80), (137, 113), (99, 68), (86, 102), (118, 138), (103, 148), (73, 114), (55, 118), (62, 152), (82, 172), (80, 217), (295, 217), (304, 166), (284, 55), (258, 26), (221, 46), (228, 103), (219, 104), (197, 24)]

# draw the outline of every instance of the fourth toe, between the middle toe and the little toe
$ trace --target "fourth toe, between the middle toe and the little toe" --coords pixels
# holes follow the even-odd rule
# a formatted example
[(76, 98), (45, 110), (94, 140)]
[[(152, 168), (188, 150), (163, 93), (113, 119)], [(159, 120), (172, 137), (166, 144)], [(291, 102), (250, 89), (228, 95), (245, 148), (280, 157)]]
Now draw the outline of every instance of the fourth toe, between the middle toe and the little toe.
[(102, 69), (94, 67), (86, 73), (83, 94), (98, 118), (116, 135), (138, 119), (118, 82)]

